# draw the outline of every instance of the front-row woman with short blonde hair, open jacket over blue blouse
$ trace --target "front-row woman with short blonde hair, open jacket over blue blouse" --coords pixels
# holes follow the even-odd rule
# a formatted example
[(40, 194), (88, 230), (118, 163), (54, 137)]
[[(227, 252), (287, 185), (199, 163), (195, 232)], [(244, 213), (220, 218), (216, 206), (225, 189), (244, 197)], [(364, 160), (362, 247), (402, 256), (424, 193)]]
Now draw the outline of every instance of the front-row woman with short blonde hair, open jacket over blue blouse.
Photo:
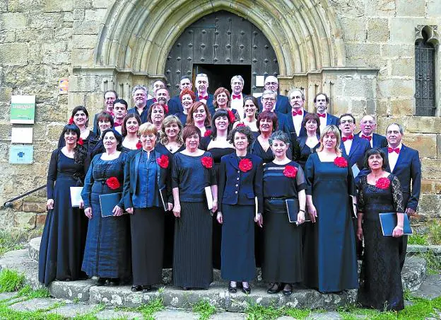
[[(130, 215), (131, 291), (150, 292), (163, 279), (164, 210), (169, 202), (170, 159), (155, 149), (156, 127), (139, 127), (142, 148), (130, 152), (124, 167), (124, 207)], [(164, 207), (166, 206), (166, 208)]]

